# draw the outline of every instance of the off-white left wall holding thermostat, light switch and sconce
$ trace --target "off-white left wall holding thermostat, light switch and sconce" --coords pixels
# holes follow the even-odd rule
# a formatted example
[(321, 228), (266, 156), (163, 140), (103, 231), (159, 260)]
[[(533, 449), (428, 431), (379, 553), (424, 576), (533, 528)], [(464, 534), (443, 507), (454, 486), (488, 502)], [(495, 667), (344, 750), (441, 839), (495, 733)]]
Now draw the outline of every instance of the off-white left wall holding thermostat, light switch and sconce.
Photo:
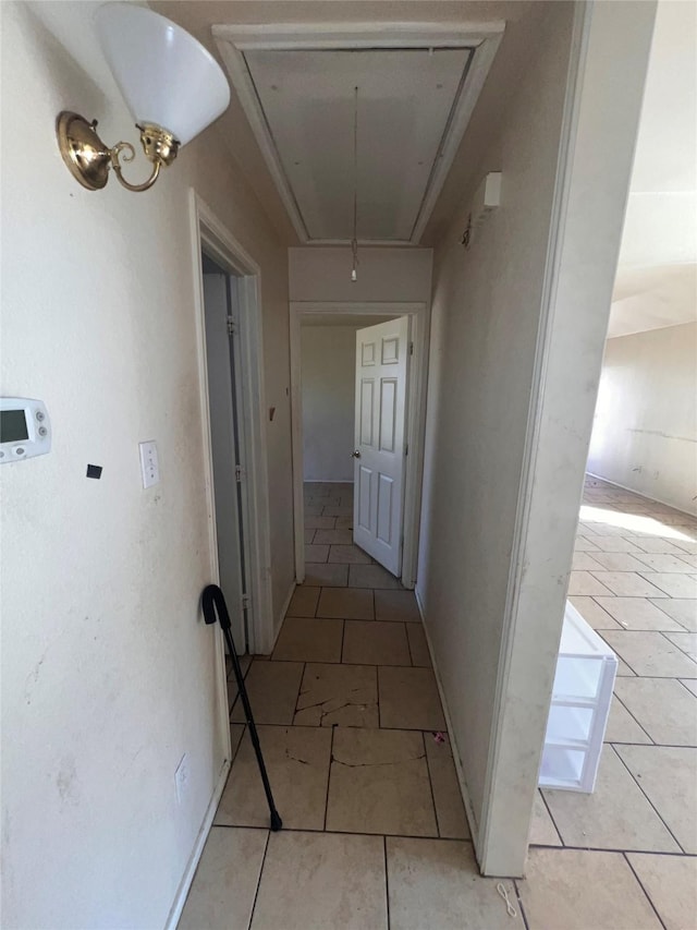
[[(276, 613), (293, 579), (286, 243), (215, 128), (145, 194), (73, 180), (60, 110), (136, 140), (94, 9), (1, 11), (2, 392), (42, 398), (53, 430), (50, 455), (0, 469), (2, 922), (22, 930), (162, 927), (223, 762), (198, 615), (210, 561), (192, 185), (261, 267)], [(142, 439), (160, 457), (148, 492)]]

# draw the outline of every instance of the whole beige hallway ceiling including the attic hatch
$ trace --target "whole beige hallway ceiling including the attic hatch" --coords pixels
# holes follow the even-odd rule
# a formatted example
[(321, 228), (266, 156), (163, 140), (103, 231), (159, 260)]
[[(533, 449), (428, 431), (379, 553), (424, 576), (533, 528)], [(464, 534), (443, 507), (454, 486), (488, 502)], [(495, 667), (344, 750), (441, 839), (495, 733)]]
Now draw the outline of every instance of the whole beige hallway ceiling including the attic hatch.
[[(376, 152), (382, 159), (381, 165), (389, 165), (387, 171), (381, 171), (382, 177), (378, 182), (375, 180), (377, 173), (370, 172), (365, 157), (362, 158), (364, 164), (358, 185), (359, 238), (367, 240), (377, 237), (382, 241), (411, 241), (429, 245), (460, 206), (464, 184), (476, 183), (476, 179), (467, 177), (468, 172), (480, 171), (480, 166), (474, 166), (470, 159), (462, 158), (464, 124), (457, 125), (457, 131), (450, 133), (448, 157), (437, 159), (440, 173), (436, 179), (438, 183), (432, 182), (431, 176), (431, 183), (428, 184), (426, 169), (428, 168), (430, 173), (433, 168), (433, 140), (443, 130), (442, 112), (447, 109), (443, 101), (447, 94), (450, 94), (452, 104), (453, 75), (457, 70), (462, 74), (464, 69), (461, 64), (466, 55), (462, 47), (456, 48), (456, 56), (443, 56), (442, 61), (445, 63), (442, 63), (438, 49), (443, 45), (448, 46), (449, 37), (458, 37), (458, 45), (465, 43), (465, 33), (472, 39), (473, 29), (478, 31), (479, 38), (470, 40), (469, 46), (478, 47), (482, 32), (489, 31), (490, 35), (496, 35), (505, 22), (505, 33), (491, 64), (489, 78), (479, 94), (481, 99), (487, 99), (485, 131), (488, 131), (490, 126), (498, 124), (509, 102), (511, 82), (527, 67), (538, 23), (548, 7), (545, 2), (529, 0), (150, 0), (149, 5), (196, 36), (223, 64), (228, 73), (231, 73), (231, 58), (230, 53), (221, 55), (221, 45), (224, 44), (225, 31), (229, 33), (228, 39), (230, 36), (236, 37), (232, 43), (232, 51), (239, 52), (241, 58), (244, 56), (242, 63), (248, 72), (246, 90), (250, 92), (253, 97), (256, 97), (257, 88), (261, 92), (257, 100), (258, 110), (256, 117), (253, 114), (250, 118), (248, 100), (243, 99), (245, 89), (241, 90), (233, 80), (230, 108), (218, 120), (216, 130), (223, 137), (233, 161), (255, 192), (278, 235), (289, 245), (298, 245), (310, 240), (326, 241), (327, 237), (331, 237), (332, 242), (337, 239), (346, 241), (353, 232), (352, 108), (351, 100), (346, 100), (346, 90), (341, 89), (340, 74), (343, 72), (341, 80), (344, 82), (344, 88), (345, 82), (348, 82), (351, 95), (356, 86), (352, 72), (355, 74), (356, 69), (355, 64), (353, 69), (350, 67), (348, 60), (352, 55), (358, 52), (337, 56), (337, 64), (331, 67), (331, 88), (325, 87), (326, 75), (322, 69), (313, 64), (318, 62), (318, 59), (303, 57), (303, 64), (310, 65), (314, 72), (310, 86), (303, 88), (302, 75), (294, 73), (297, 59), (294, 63), (293, 55), (282, 58), (262, 55), (261, 52), (268, 51), (258, 47), (264, 44), (262, 40), (256, 43), (253, 48), (255, 43), (243, 41), (241, 34), (247, 31), (248, 34), (268, 37), (278, 29), (298, 32), (299, 26), (310, 34), (317, 34), (318, 31), (326, 33), (330, 27), (344, 34), (350, 28), (362, 28), (368, 33), (372, 31), (374, 35), (380, 37), (382, 45), (384, 35), (395, 28), (394, 24), (412, 34), (419, 29), (423, 32), (425, 25), (433, 31), (440, 26), (440, 40), (435, 43), (435, 60), (430, 62), (427, 52), (412, 51), (413, 41), (396, 44), (403, 49), (408, 46), (407, 55), (418, 58), (419, 72), (424, 70), (421, 63), (426, 62), (424, 74), (408, 74), (408, 87), (400, 86), (403, 83), (405, 59), (400, 61), (399, 53), (390, 53), (381, 63), (378, 58), (386, 57), (382, 52), (381, 56), (372, 56), (369, 69), (360, 74), (362, 78), (368, 82), (365, 84), (365, 102), (360, 101), (359, 94), (359, 148), (362, 152), (366, 150), (368, 138), (364, 136), (362, 142), (360, 134), (371, 133)], [(213, 38), (213, 29), (217, 40)], [(235, 49), (235, 41), (244, 48)], [(228, 41), (228, 45), (231, 43)], [(278, 45), (282, 43), (277, 43)], [(375, 43), (369, 45), (375, 47)], [(423, 48), (424, 41), (420, 45)], [(354, 46), (355, 43), (352, 47)], [(335, 44), (334, 50), (337, 49), (341, 52), (341, 48)], [(285, 48), (283, 51), (291, 49)], [(320, 55), (325, 53), (326, 49), (295, 48), (293, 51), (313, 51)], [(453, 64), (453, 58), (456, 57), (460, 57), (460, 63)], [(447, 61), (448, 58), (451, 60)], [(380, 114), (388, 110), (387, 92), (382, 93), (382, 99), (374, 92), (368, 95), (369, 84), (372, 82), (375, 87), (380, 69), (391, 81), (394, 92), (394, 105), (389, 108), (390, 120), (383, 119), (381, 124)], [(390, 69), (393, 69), (391, 76)], [(443, 70), (443, 81), (437, 76), (439, 69)], [(476, 76), (473, 70), (470, 67), (469, 77)], [(282, 77), (282, 84), (271, 76), (274, 72), (280, 72), (276, 76)], [(482, 78), (484, 75), (480, 74), (479, 77)], [(449, 87), (432, 86), (433, 83), (445, 82), (450, 82)], [(283, 86), (284, 89), (274, 92), (270, 88), (271, 84), (279, 88)], [(480, 86), (481, 80), (478, 86), (476, 82), (472, 85), (470, 94), (474, 90), (474, 97), (479, 93)], [(284, 106), (284, 94), (290, 95), (295, 102), (302, 89), (309, 90), (317, 104), (325, 106), (323, 113), (310, 113), (308, 106), (303, 107), (301, 112), (294, 109), (294, 104), (293, 107)], [(427, 96), (421, 99), (424, 94)], [(461, 99), (464, 96), (461, 90)], [(481, 135), (482, 120), (480, 107), (473, 113), (473, 106), (474, 99), (470, 99), (467, 106), (461, 109), (460, 116), (461, 119), (464, 118), (463, 123), (468, 120), (467, 134), (474, 133), (474, 137), (478, 138)], [(260, 119), (261, 123), (266, 122), (267, 111), (273, 123), (272, 146), (266, 146), (264, 133), (259, 132), (258, 125), (254, 125), (255, 119)], [(304, 132), (299, 131), (301, 124), (305, 126)], [(400, 142), (402, 144), (399, 144)], [(270, 166), (273, 159), (268, 158), (269, 149), (276, 150), (280, 165)], [(299, 157), (296, 153), (299, 153)], [(429, 159), (430, 165), (427, 164)], [(295, 165), (295, 161), (301, 165)], [(419, 161), (425, 164), (418, 165)], [(449, 165), (440, 162), (452, 162), (452, 167), (448, 170)], [(293, 173), (292, 169), (298, 169), (297, 173)], [(310, 169), (317, 169), (314, 177), (310, 177)], [(279, 174), (285, 176), (285, 185), (279, 183)], [(327, 178), (331, 180), (328, 182)], [(325, 200), (325, 193), (334, 185), (338, 190), (333, 192), (331, 200)], [(421, 196), (428, 186), (428, 203), (421, 205), (426, 209), (421, 208), (418, 228), (409, 238), (408, 228), (409, 225), (414, 228), (416, 205), (420, 202), (419, 185)], [(301, 215), (302, 222), (297, 221), (297, 217), (293, 218), (293, 208)], [(305, 229), (305, 226), (308, 226), (309, 230)], [(402, 237), (405, 235), (406, 240), (403, 240)]]

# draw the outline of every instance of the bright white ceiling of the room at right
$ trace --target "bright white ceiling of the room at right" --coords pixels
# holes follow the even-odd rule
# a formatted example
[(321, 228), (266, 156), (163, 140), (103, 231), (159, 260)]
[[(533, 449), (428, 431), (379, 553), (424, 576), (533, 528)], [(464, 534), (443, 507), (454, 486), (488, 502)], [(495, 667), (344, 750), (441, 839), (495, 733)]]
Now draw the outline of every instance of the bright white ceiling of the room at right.
[(697, 5), (658, 4), (610, 338), (697, 321)]

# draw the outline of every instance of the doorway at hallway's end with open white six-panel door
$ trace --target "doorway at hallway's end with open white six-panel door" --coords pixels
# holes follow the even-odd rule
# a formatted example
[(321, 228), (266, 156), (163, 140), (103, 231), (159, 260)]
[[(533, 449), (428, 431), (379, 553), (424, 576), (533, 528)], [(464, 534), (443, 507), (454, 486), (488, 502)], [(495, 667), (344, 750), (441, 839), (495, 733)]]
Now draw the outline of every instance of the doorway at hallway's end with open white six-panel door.
[(308, 545), (320, 573), (355, 558), (414, 588), (427, 334), (425, 303), (291, 303), (298, 583)]

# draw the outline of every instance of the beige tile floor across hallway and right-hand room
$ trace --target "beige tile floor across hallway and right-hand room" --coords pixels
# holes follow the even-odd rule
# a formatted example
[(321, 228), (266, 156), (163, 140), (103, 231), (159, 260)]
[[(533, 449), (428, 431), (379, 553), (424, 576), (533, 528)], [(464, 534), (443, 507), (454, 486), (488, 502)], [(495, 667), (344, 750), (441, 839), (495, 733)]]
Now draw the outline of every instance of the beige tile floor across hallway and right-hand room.
[(512, 917), (435, 738), (414, 595), (352, 545), (351, 485), (309, 485), (306, 514), (306, 582), (270, 661), (245, 657), (284, 830), (267, 830), (235, 704), (181, 930), (697, 928), (697, 521), (586, 482), (570, 597), (621, 668), (596, 792), (538, 794)]

